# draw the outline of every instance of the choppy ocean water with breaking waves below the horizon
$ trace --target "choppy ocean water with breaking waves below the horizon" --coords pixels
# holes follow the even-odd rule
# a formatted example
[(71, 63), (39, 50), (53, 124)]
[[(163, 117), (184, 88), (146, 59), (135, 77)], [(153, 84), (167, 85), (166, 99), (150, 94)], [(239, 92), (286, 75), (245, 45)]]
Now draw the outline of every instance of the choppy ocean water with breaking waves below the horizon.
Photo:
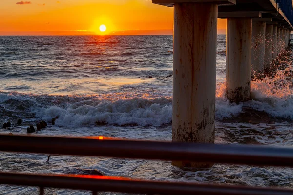
[[(292, 55), (272, 78), (251, 83), (252, 100), (225, 98), (226, 40), (218, 36), (216, 143), (293, 145)], [(55, 125), (40, 135), (171, 140), (172, 36), (0, 37), (0, 125), (26, 134), (30, 124)], [(149, 77), (152, 78), (149, 78)], [(21, 126), (16, 125), (22, 118)], [(216, 164), (179, 169), (170, 162), (105, 157), (0, 153), (0, 171), (108, 176), (293, 188), (293, 169)], [(88, 195), (47, 189), (47, 194)], [(38, 194), (0, 185), (0, 195)], [(111, 194), (111, 193), (108, 193)]]

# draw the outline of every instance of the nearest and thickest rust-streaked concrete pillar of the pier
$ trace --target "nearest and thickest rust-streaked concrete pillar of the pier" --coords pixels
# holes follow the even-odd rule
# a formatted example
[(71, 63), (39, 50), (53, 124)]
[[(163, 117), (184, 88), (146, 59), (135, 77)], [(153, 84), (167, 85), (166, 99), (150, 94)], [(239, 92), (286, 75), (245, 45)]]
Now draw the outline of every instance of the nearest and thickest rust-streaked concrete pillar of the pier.
[[(173, 142), (214, 143), (218, 5), (174, 5)], [(178, 167), (212, 163), (173, 161)]]

